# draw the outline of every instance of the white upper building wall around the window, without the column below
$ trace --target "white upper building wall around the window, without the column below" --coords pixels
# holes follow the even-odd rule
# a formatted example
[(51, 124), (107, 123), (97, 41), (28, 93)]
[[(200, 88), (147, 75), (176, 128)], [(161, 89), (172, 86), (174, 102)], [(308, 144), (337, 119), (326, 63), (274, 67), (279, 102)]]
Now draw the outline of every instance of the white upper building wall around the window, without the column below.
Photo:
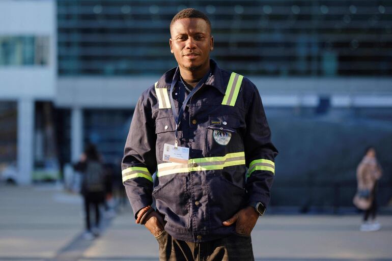
[(53, 99), (57, 68), (55, 0), (1, 0), (0, 36), (49, 36), (47, 66), (0, 67), (0, 99)]

